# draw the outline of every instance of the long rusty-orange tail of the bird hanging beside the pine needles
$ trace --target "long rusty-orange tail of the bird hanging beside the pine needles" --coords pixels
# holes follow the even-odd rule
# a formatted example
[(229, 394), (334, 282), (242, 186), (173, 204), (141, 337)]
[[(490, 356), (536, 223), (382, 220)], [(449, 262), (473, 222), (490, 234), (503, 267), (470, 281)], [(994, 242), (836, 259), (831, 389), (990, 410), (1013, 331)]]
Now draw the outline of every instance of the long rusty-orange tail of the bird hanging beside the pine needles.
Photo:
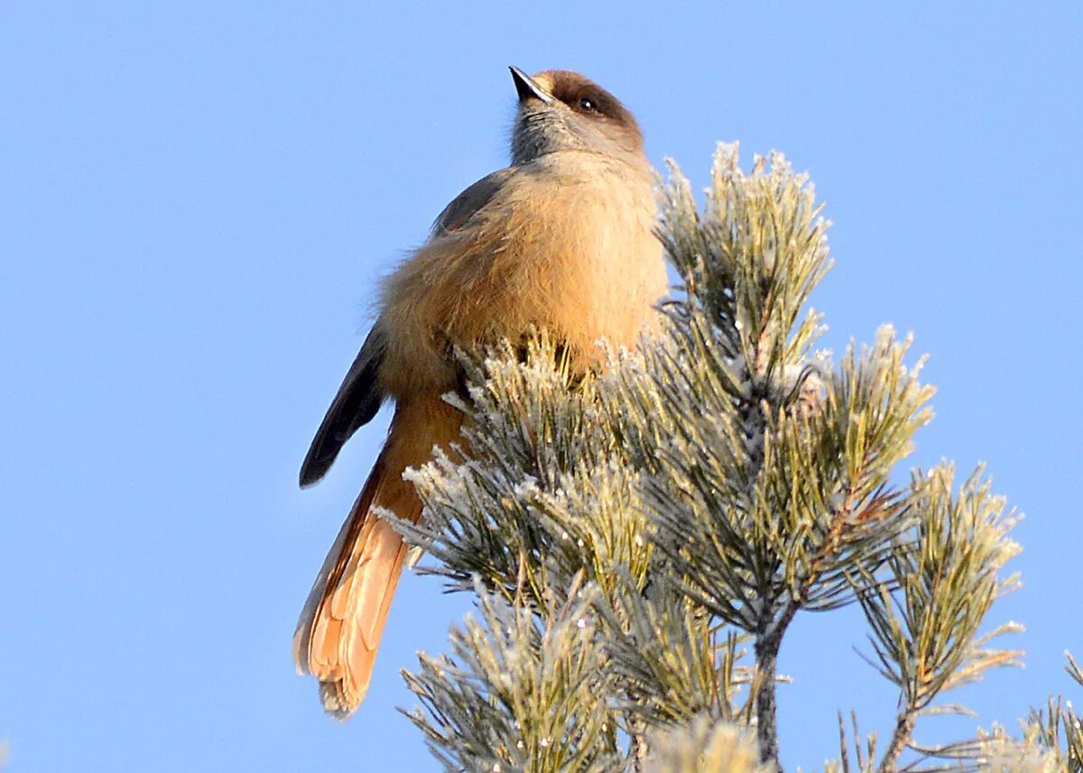
[(293, 661), (300, 673), (319, 680), (324, 709), (340, 719), (356, 710), (368, 690), (406, 556), (403, 538), (373, 509), (416, 522), (421, 502), (403, 472), (431, 459), (434, 445), (454, 442), (460, 424), (461, 414), (439, 397), (400, 404), (383, 450), (301, 611)]

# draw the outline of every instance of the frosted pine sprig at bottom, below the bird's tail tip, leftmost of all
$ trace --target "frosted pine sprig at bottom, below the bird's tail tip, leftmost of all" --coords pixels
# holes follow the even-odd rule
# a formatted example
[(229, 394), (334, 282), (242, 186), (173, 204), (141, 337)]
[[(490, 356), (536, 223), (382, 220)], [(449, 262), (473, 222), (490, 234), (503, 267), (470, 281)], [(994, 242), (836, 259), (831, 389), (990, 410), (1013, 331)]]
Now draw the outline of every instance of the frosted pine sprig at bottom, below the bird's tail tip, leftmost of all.
[(480, 619), (452, 631), (452, 657), (420, 655), (405, 673), (420, 709), (407, 713), (452, 771), (604, 773), (621, 764), (606, 704), (604, 652), (590, 605), (597, 589), (535, 614), (480, 584)]

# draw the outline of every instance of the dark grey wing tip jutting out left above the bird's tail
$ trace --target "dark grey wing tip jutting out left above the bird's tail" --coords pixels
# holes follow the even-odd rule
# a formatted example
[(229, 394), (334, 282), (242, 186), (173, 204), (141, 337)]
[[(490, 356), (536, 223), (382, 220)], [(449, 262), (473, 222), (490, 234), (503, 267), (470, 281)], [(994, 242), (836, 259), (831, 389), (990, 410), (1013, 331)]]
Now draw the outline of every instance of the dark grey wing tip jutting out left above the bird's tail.
[(316, 430), (309, 455), (301, 464), (301, 486), (311, 486), (323, 477), (342, 450), (342, 445), (357, 429), (376, 416), (383, 402), (376, 375), (383, 362), (388, 341), (377, 323), (350, 366), (327, 416)]

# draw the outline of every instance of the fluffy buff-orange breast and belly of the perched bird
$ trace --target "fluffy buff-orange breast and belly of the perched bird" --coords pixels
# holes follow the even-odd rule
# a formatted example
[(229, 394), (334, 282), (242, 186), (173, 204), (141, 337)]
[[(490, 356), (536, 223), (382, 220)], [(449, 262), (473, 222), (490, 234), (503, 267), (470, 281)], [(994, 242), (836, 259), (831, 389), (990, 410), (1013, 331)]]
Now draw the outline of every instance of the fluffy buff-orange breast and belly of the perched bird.
[(584, 361), (602, 338), (631, 345), (666, 291), (653, 224), (645, 165), (591, 153), (524, 165), (391, 277), (381, 317), (405, 357), (387, 363), (384, 386), (452, 378), (441, 370), (449, 346), (514, 341), (532, 326)]

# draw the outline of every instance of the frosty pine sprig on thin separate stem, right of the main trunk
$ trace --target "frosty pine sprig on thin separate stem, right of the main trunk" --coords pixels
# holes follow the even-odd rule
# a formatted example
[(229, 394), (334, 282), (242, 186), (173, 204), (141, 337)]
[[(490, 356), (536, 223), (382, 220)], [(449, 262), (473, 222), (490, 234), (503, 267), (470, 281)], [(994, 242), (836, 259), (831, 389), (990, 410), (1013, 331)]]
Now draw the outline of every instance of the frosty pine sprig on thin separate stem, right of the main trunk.
[(993, 602), (1018, 585), (1014, 575), (1000, 576), (1019, 552), (1007, 537), (1018, 519), (1003, 516), (1004, 500), (990, 494), (980, 469), (957, 497), (953, 479), (950, 466), (914, 473), (909, 502), (918, 521), (888, 562), (898, 591), (882, 586), (859, 594), (877, 670), (900, 690), (880, 773), (896, 770), (918, 716), (928, 713), (941, 693), (981, 679), (990, 668), (1017, 665), (1022, 655), (987, 646), (995, 637), (1021, 630), (1017, 625), (979, 634)]

